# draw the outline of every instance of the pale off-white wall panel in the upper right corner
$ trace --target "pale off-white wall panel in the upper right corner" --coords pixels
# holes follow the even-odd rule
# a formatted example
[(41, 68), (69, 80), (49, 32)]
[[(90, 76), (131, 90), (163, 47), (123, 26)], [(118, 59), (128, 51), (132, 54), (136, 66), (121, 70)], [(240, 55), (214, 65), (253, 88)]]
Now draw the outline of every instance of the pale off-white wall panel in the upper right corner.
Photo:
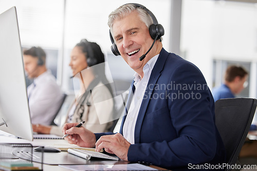
[(257, 58), (257, 7), (214, 3), (213, 56), (251, 61)]

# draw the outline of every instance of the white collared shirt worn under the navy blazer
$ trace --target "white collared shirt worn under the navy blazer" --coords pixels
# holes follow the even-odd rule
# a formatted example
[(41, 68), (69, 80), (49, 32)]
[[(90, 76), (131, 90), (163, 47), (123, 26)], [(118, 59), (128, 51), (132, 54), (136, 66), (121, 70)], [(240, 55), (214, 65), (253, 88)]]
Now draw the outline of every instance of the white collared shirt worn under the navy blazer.
[(131, 144), (135, 143), (135, 126), (136, 121), (139, 113), (139, 109), (144, 97), (144, 92), (146, 89), (146, 86), (148, 84), (150, 75), (152, 73), (152, 70), (154, 68), (154, 65), (156, 63), (156, 60), (158, 59), (158, 55), (151, 58), (143, 67), (143, 73), (144, 76), (141, 79), (138, 73), (135, 73), (134, 76), (134, 86), (135, 86), (135, 92), (131, 101), (130, 109), (128, 110), (126, 120), (123, 125), (123, 137), (130, 142)]

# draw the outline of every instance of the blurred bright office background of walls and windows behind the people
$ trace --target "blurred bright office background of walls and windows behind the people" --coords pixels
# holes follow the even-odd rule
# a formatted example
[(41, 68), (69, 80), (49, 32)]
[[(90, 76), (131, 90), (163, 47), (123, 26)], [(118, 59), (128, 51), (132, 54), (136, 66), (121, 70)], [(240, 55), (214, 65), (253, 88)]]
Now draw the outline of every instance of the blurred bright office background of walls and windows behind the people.
[[(110, 47), (108, 14), (127, 0), (0, 0), (0, 13), (16, 6), (23, 48), (41, 46), (47, 67), (62, 90), (74, 93), (68, 66), (71, 49), (82, 38), (95, 41), (105, 54), (117, 91), (126, 90), (134, 71)], [(193, 62), (212, 90), (230, 64), (250, 73), (238, 97), (257, 98), (257, 0), (136, 0), (164, 27), (163, 47)], [(2, 80), (3, 81), (3, 80)]]

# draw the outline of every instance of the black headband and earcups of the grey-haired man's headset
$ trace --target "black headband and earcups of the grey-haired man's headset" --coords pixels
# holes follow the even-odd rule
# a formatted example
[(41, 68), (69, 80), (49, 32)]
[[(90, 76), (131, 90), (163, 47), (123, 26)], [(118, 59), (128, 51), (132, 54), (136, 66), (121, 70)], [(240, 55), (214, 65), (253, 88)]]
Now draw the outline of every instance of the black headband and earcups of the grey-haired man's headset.
[[(149, 9), (144, 7), (143, 5), (135, 4), (135, 3), (130, 3), (130, 4), (136, 6), (136, 8), (138, 8), (138, 7), (142, 8), (143, 10), (145, 10), (151, 16), (151, 18), (153, 19), (154, 24), (152, 24), (149, 27), (149, 33), (150, 33), (150, 35), (153, 39), (155, 39), (156, 35), (158, 35), (157, 39), (160, 39), (161, 36), (164, 35), (164, 28), (160, 24), (158, 24), (157, 19), (154, 16), (154, 14)], [(127, 5), (127, 4), (125, 4), (125, 5)], [(114, 42), (111, 30), (109, 30), (109, 35), (110, 35), (110, 38), (111, 38), (111, 41), (112, 41), (112, 44), (113, 44), (111, 46), (112, 52), (114, 53), (115, 56), (118, 56), (118, 55), (120, 55), (120, 52), (118, 51), (117, 45)], [(161, 41), (161, 39), (160, 39), (160, 41)]]

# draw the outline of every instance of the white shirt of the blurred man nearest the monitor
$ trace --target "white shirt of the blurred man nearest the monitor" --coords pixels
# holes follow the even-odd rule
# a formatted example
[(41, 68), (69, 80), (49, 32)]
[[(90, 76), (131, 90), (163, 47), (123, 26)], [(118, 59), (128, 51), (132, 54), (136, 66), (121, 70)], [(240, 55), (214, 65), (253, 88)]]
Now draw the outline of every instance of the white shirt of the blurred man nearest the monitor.
[(49, 125), (60, 108), (63, 94), (50, 71), (34, 78), (27, 88), (31, 122)]

